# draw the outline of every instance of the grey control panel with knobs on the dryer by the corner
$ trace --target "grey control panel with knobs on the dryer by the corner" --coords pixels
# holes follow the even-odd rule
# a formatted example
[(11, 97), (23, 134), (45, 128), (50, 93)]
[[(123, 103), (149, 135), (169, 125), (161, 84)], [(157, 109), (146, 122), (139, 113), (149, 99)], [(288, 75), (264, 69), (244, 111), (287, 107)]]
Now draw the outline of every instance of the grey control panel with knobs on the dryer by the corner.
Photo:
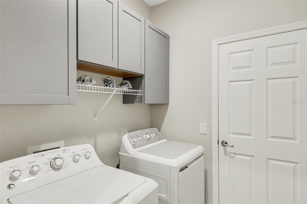
[(157, 128), (138, 130), (132, 133), (128, 133), (127, 138), (133, 149), (164, 139)]

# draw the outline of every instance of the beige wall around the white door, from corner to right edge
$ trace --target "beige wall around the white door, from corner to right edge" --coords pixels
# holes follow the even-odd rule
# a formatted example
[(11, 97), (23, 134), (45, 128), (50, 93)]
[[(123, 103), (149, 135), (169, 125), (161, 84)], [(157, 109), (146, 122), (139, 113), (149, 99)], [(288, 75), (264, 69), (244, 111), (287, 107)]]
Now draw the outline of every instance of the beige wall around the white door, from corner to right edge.
[[(307, 19), (306, 1), (172, 1), (151, 7), (170, 35), (169, 105), (151, 106), (151, 127), (167, 139), (203, 145), (206, 203), (212, 203), (212, 40)], [(207, 123), (207, 135), (199, 134)]]

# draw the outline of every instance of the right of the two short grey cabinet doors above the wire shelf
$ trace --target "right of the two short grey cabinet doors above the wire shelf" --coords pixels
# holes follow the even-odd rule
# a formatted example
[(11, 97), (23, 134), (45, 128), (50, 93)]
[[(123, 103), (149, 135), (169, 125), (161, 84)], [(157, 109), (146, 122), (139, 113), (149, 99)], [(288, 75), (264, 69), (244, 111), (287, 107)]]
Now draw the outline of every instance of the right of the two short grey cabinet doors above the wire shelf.
[(121, 2), (118, 12), (118, 68), (144, 74), (145, 19)]

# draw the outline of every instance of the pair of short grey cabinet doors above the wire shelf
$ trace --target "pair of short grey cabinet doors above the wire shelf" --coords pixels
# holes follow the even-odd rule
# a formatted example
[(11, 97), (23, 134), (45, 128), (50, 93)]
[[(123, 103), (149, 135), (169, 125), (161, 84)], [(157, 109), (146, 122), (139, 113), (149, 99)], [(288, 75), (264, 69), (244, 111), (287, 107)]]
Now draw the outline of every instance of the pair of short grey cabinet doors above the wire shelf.
[(144, 74), (144, 25), (121, 2), (79, 0), (78, 60)]

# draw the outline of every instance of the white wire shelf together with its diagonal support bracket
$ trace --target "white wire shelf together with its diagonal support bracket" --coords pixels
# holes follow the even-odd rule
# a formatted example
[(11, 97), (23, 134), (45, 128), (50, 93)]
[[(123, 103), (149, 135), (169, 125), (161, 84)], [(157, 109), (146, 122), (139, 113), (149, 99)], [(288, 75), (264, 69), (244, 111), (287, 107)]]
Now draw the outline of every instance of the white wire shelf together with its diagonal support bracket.
[(115, 93), (119, 94), (130, 94), (130, 95), (143, 95), (142, 90), (133, 90), (133, 89), (119, 89), (119, 88), (110, 88), (110, 87), (103, 87), (103, 86), (91, 86), (91, 85), (82, 85), (77, 84), (77, 91), (86, 91), (86, 92), (98, 92), (98, 93), (111, 93), (109, 98), (100, 108), (98, 113), (94, 117), (94, 121), (97, 122), (97, 118), (104, 107), (106, 107), (107, 103), (111, 100)]

